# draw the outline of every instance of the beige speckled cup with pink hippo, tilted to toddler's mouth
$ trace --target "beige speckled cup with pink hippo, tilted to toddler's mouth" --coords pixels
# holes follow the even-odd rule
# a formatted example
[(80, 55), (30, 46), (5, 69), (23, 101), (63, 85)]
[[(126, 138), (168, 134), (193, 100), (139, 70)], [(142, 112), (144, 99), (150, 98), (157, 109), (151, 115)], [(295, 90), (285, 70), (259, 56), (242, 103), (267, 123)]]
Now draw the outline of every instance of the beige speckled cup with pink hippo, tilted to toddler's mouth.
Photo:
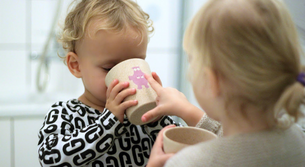
[(135, 125), (146, 124), (155, 119), (152, 118), (146, 122), (141, 121), (141, 117), (145, 112), (156, 107), (157, 97), (155, 90), (152, 89), (145, 79), (144, 73), (151, 76), (151, 70), (148, 63), (143, 59), (135, 58), (118, 63), (108, 72), (105, 78), (107, 87), (114, 79), (118, 79), (119, 82), (129, 82), (129, 87), (127, 89), (136, 89), (134, 95), (127, 96), (124, 99), (124, 101), (138, 101), (136, 106), (129, 107), (125, 111), (128, 120)]

